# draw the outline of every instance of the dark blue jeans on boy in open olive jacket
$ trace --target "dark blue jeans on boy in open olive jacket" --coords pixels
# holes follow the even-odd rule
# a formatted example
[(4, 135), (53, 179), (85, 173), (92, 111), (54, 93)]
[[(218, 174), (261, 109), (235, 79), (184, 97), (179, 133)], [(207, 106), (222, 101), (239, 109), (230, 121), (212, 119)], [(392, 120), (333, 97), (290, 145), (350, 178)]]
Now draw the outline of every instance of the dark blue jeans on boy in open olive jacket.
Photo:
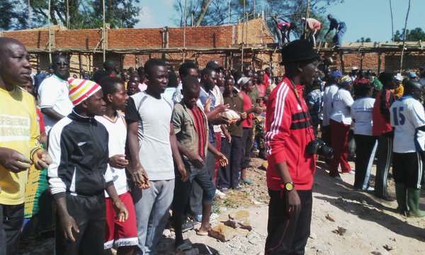
[(174, 188), (174, 199), (173, 199), (173, 210), (177, 214), (183, 214), (186, 205), (189, 200), (189, 193), (191, 192), (191, 186), (194, 183), (198, 183), (202, 188), (202, 204), (210, 205), (214, 200), (215, 196), (215, 184), (212, 181), (210, 172), (205, 164), (202, 169), (197, 169), (191, 162), (183, 160), (186, 171), (189, 174), (188, 181), (181, 181), (181, 174), (179, 171), (175, 171), (176, 174), (176, 188)]

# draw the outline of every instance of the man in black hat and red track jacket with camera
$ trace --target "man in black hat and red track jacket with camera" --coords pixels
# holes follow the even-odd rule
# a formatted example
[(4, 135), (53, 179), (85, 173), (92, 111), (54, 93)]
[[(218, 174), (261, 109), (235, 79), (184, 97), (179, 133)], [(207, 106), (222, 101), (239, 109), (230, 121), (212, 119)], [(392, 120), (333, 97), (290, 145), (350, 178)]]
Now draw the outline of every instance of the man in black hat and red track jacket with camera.
[(285, 76), (268, 98), (266, 110), (267, 186), (270, 195), (265, 254), (304, 254), (310, 235), (314, 140), (302, 95), (317, 77), (319, 54), (307, 40), (282, 49)]

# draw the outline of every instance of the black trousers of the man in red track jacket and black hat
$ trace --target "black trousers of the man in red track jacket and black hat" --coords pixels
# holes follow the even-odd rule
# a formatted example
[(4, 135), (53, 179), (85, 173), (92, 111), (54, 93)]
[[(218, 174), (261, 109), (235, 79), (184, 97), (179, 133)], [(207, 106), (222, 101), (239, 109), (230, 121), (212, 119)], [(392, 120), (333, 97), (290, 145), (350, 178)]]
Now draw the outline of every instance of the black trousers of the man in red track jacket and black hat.
[(305, 253), (312, 221), (312, 190), (296, 192), (300, 196), (301, 211), (289, 214), (286, 210), (287, 193), (268, 190), (267, 255)]

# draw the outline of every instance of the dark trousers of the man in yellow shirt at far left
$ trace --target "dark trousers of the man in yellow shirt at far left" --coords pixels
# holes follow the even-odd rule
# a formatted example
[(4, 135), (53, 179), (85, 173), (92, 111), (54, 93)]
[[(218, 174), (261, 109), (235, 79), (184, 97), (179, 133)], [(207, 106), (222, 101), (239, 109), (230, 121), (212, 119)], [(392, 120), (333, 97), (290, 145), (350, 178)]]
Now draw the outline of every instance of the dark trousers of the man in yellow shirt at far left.
[(23, 203), (0, 205), (0, 217), (0, 255), (18, 254), (23, 223)]

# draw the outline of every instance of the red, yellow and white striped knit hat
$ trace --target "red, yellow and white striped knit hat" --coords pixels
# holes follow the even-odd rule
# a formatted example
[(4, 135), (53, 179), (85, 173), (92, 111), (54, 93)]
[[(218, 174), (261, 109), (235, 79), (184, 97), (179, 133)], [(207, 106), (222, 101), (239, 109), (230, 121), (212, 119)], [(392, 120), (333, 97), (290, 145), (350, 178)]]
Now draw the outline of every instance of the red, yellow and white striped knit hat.
[(69, 78), (68, 82), (69, 100), (71, 100), (74, 106), (78, 106), (82, 101), (101, 90), (101, 86), (96, 84), (94, 81)]

